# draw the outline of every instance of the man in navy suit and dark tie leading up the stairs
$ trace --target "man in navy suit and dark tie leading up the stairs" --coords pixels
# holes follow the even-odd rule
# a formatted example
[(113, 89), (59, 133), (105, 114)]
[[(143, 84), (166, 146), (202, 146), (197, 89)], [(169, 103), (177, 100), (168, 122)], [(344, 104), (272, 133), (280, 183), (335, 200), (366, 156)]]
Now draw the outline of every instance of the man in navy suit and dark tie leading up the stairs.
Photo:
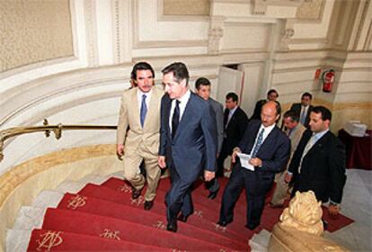
[(187, 67), (175, 62), (162, 72), (167, 94), (161, 103), (158, 164), (170, 169), (166, 229), (176, 232), (177, 219), (186, 222), (193, 212), (192, 183), (203, 170), (206, 181), (215, 177), (217, 130), (208, 102), (190, 92)]

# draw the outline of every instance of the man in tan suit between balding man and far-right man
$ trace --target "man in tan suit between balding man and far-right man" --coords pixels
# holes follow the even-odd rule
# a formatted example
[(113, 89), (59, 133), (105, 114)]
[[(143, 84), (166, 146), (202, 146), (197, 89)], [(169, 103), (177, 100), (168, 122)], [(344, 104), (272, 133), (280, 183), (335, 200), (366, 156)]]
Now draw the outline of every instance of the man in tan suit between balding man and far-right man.
[(288, 111), (284, 113), (283, 124), (287, 128), (285, 132), (288, 138), (290, 139), (291, 145), (290, 157), (288, 160), (288, 165), (286, 166), (286, 170), (279, 173), (275, 177), (275, 182), (277, 183), (277, 186), (275, 188), (274, 194), (272, 195), (272, 199), (270, 202), (270, 206), (273, 208), (282, 207), (286, 199), (288, 193), (288, 184), (284, 181), (284, 176), (287, 174), (290, 160), (292, 159), (293, 154), (295, 153), (297, 145), (302, 137), (302, 134), (306, 130), (305, 126), (299, 122), (299, 116), (297, 112), (294, 111)]

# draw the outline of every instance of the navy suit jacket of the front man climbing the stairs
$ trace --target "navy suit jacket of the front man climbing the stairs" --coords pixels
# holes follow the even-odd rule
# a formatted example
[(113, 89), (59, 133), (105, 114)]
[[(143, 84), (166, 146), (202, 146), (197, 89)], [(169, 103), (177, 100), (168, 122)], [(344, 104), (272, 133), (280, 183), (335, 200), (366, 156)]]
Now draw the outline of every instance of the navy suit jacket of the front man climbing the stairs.
[(197, 94), (190, 95), (178, 129), (172, 139), (169, 116), (172, 100), (164, 94), (161, 104), (159, 155), (166, 157), (183, 181), (193, 182), (203, 169), (216, 170), (216, 119), (210, 105)]

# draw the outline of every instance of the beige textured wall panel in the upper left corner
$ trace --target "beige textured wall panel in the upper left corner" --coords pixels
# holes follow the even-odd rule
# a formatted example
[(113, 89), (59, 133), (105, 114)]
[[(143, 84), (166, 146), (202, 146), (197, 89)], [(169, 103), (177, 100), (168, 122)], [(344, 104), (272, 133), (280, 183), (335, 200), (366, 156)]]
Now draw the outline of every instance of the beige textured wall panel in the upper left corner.
[(68, 0), (0, 1), (0, 72), (74, 55)]

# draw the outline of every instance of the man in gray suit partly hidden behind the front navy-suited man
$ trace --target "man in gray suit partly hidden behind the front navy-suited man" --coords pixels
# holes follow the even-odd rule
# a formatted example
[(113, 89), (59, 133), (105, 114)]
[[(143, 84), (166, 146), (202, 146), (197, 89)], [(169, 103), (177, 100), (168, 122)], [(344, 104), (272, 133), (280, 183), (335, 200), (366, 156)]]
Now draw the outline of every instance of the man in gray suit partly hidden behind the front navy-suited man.
[[(201, 98), (208, 101), (212, 108), (212, 112), (216, 116), (217, 126), (217, 157), (221, 151), (222, 141), (224, 140), (224, 106), (218, 103), (216, 100), (210, 98), (210, 82), (208, 78), (199, 77), (195, 82), (195, 91)], [(208, 199), (214, 199), (217, 195), (220, 185), (218, 184), (217, 178), (207, 182), (207, 188), (209, 191)]]

